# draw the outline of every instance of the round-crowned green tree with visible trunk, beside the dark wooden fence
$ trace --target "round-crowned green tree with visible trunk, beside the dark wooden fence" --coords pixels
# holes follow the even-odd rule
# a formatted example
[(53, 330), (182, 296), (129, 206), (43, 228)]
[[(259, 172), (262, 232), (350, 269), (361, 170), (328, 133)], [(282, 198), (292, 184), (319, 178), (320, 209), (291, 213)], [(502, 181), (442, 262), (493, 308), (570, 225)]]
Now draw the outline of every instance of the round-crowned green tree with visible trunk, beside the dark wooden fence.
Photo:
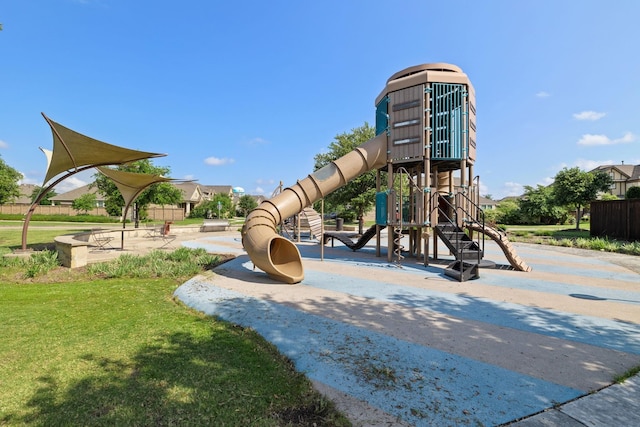
[(576, 210), (576, 230), (580, 229), (582, 207), (595, 200), (598, 192), (607, 191), (613, 180), (606, 172), (584, 172), (578, 167), (564, 168), (553, 183), (553, 196), (558, 205), (572, 206)]

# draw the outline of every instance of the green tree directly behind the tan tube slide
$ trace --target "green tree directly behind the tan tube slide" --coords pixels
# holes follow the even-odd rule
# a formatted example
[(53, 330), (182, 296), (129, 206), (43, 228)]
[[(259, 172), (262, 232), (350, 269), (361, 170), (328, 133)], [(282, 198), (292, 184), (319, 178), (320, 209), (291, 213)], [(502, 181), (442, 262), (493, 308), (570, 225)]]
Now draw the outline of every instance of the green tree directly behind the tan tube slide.
[[(365, 122), (363, 126), (352, 129), (350, 133), (336, 135), (329, 144), (329, 151), (316, 154), (315, 167), (318, 170), (334, 160), (353, 151), (357, 146), (375, 136), (375, 128)], [(376, 172), (369, 171), (354, 178), (347, 185), (325, 197), (325, 210), (338, 213), (352, 211), (358, 218), (358, 231), (364, 232), (364, 215), (373, 207), (376, 197)]]

